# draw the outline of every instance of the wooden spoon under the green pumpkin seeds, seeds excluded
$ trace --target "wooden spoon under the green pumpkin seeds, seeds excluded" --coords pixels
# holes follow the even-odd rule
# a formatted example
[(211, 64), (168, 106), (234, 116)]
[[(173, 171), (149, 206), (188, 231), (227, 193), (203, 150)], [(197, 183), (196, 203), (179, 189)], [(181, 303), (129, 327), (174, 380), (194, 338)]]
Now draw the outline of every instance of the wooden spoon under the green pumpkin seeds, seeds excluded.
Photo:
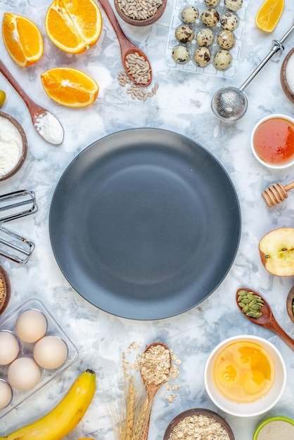
[(251, 321), (252, 323), (261, 325), (262, 327), (268, 328), (272, 332), (276, 333), (276, 335), (278, 335), (279, 337), (281, 337), (281, 339), (283, 339), (283, 342), (286, 342), (286, 344), (290, 347), (290, 349), (294, 350), (294, 340), (291, 339), (290, 336), (288, 336), (287, 333), (284, 332), (284, 330), (276, 322), (276, 319), (274, 318), (274, 315), (271, 311), (269, 304), (262, 297), (262, 295), (260, 295), (260, 293), (256, 292), (253, 289), (248, 289), (248, 287), (241, 287), (240, 289), (238, 289), (236, 292), (236, 302), (238, 305), (238, 309), (241, 310), (238, 304), (238, 296), (241, 290), (246, 290), (247, 292), (253, 292), (254, 295), (258, 295), (264, 301), (264, 305), (260, 309), (260, 311), (262, 312), (262, 316), (260, 316), (260, 318), (251, 318), (250, 316), (247, 316), (245, 313), (242, 312), (245, 318), (249, 319), (249, 321)]

